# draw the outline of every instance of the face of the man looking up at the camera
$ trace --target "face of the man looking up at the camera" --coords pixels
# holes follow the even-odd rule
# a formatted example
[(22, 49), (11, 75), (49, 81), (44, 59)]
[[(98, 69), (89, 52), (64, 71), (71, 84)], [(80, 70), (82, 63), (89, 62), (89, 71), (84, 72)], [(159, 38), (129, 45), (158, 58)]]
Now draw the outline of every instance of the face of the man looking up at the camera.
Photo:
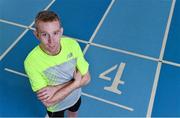
[(51, 55), (55, 55), (59, 52), (62, 33), (63, 28), (61, 28), (59, 21), (40, 21), (37, 26), (37, 31), (35, 32), (44, 51)]

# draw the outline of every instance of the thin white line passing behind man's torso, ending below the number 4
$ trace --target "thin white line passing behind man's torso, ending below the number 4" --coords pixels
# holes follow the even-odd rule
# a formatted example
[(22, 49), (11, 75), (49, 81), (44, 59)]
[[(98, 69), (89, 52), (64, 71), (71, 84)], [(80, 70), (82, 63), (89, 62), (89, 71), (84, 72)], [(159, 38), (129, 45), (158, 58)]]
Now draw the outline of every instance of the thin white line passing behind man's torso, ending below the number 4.
[[(23, 77), (28, 78), (28, 76), (26, 74), (15, 71), (13, 69), (5, 68), (4, 70), (7, 71), (7, 72), (10, 72), (10, 73), (13, 73), (15, 75), (19, 75), (19, 76), (23, 76)], [(102, 98), (99, 98), (99, 97), (95, 97), (93, 95), (90, 95), (90, 94), (87, 94), (87, 93), (84, 93), (84, 92), (82, 93), (82, 95), (84, 95), (86, 97), (89, 97), (89, 98), (93, 98), (95, 100), (98, 100), (98, 101), (101, 101), (101, 102), (104, 102), (104, 103), (107, 103), (107, 104), (110, 104), (110, 105), (113, 105), (113, 106), (116, 106), (116, 107), (119, 107), (119, 108), (123, 108), (123, 109), (128, 110), (128, 111), (134, 111), (133, 108), (127, 107), (125, 105), (117, 104), (115, 102), (111, 102), (111, 101), (108, 101), (108, 100), (105, 100), (105, 99), (102, 99)]]

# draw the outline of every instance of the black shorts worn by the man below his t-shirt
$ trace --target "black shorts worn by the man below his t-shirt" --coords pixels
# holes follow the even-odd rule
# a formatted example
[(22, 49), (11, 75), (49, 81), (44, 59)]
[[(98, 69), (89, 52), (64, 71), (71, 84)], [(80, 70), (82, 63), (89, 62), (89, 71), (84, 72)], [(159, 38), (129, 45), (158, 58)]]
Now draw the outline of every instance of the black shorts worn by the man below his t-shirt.
[(79, 100), (76, 102), (76, 104), (74, 104), (72, 107), (70, 108), (67, 108), (65, 110), (62, 110), (62, 111), (57, 111), (57, 112), (50, 112), (50, 111), (47, 111), (48, 113), (48, 116), (49, 117), (64, 117), (64, 112), (66, 110), (69, 110), (71, 112), (76, 112), (78, 111), (79, 107), (81, 105), (81, 98), (79, 98)]

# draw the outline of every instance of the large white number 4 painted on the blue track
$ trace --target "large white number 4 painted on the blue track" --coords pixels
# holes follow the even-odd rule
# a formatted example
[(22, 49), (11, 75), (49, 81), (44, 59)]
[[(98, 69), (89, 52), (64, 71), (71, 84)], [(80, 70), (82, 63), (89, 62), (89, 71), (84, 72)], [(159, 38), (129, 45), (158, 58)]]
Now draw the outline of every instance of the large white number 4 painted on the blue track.
[[(116, 93), (116, 94), (121, 94), (122, 92), (120, 90), (118, 90), (118, 85), (119, 84), (124, 84), (124, 81), (120, 80), (122, 73), (124, 71), (124, 67), (125, 67), (126, 63), (121, 63), (119, 65), (118, 71), (116, 73), (116, 76), (114, 78), (114, 81), (112, 82), (111, 86), (108, 87), (104, 87), (105, 90)], [(111, 81), (110, 77), (106, 77), (105, 75), (109, 74), (110, 72), (112, 72), (113, 70), (115, 70), (117, 68), (117, 64), (113, 67), (111, 67), (110, 69), (104, 71), (103, 73), (101, 73), (99, 75), (99, 78), (107, 80), (107, 81)]]

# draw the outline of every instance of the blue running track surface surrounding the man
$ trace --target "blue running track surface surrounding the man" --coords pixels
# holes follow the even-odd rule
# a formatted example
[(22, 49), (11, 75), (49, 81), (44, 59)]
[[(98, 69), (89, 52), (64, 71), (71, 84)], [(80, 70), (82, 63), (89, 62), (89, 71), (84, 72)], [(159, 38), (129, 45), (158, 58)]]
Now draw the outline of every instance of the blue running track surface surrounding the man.
[[(36, 13), (50, 2), (0, 1), (0, 117), (46, 115), (45, 107), (31, 90), (23, 67), (24, 59), (38, 40), (32, 30), (16, 25), (29, 26)], [(174, 2), (56, 0), (49, 7), (61, 16), (65, 36), (79, 39), (82, 50), (90, 43), (85, 57), (90, 63), (92, 80), (83, 87), (79, 116), (180, 117), (178, 0), (167, 32), (167, 43), (162, 46)], [(111, 8), (105, 14), (108, 7)], [(99, 29), (95, 32), (98, 25)], [(24, 32), (26, 29), (27, 32)], [(87, 43), (91, 38), (92, 42)], [(161, 57), (163, 49), (165, 51)], [(117, 78), (124, 82), (116, 88), (121, 94), (105, 89), (111, 87)]]

